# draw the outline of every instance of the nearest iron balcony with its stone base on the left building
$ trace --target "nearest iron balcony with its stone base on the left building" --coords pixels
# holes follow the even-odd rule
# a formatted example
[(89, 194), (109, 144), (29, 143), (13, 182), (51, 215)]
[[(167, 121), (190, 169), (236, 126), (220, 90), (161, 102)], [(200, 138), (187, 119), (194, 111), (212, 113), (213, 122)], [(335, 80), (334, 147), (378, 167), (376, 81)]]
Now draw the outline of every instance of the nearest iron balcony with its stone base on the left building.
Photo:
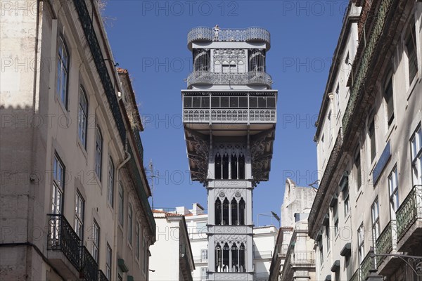
[(74, 277), (81, 263), (81, 240), (62, 214), (47, 214), (47, 216), (49, 218), (48, 259), (62, 275)]

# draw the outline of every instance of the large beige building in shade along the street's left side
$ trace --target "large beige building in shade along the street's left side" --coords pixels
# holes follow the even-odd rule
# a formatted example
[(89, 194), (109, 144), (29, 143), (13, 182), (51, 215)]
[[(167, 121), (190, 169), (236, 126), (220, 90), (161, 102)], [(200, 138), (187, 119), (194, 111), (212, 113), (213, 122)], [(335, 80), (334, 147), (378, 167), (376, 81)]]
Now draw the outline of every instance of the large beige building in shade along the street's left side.
[(1, 8), (2, 279), (148, 280), (142, 124), (96, 1)]

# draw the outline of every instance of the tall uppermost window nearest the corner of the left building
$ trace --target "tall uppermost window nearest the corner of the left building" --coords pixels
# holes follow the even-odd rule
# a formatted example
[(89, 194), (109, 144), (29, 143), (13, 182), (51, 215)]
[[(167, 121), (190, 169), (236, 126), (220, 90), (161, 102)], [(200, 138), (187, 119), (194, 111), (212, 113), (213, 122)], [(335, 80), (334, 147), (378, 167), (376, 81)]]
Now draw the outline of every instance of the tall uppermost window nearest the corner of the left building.
[(65, 41), (60, 35), (58, 37), (57, 48), (57, 77), (56, 94), (65, 107), (68, 106), (68, 73), (69, 73), (69, 53), (65, 46)]

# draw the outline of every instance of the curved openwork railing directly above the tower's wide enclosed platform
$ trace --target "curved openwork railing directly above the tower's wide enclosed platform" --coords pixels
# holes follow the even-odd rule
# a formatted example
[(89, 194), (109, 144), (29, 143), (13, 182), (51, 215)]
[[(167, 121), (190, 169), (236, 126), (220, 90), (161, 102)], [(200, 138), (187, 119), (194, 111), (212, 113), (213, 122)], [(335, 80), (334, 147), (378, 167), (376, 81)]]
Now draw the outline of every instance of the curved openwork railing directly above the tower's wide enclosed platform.
[(267, 72), (214, 73), (194, 71), (188, 75), (188, 87), (193, 84), (248, 85), (264, 84), (271, 87), (271, 76)]

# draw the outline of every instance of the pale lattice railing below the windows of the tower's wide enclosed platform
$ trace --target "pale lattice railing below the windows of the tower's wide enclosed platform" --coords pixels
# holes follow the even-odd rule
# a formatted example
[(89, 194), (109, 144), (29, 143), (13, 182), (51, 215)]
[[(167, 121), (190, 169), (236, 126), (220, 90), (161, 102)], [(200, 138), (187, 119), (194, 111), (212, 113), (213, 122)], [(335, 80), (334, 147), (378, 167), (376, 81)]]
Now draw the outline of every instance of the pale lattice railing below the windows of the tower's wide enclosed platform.
[(183, 110), (183, 122), (238, 122), (238, 123), (272, 123), (276, 122), (276, 110), (247, 109), (207, 109)]

